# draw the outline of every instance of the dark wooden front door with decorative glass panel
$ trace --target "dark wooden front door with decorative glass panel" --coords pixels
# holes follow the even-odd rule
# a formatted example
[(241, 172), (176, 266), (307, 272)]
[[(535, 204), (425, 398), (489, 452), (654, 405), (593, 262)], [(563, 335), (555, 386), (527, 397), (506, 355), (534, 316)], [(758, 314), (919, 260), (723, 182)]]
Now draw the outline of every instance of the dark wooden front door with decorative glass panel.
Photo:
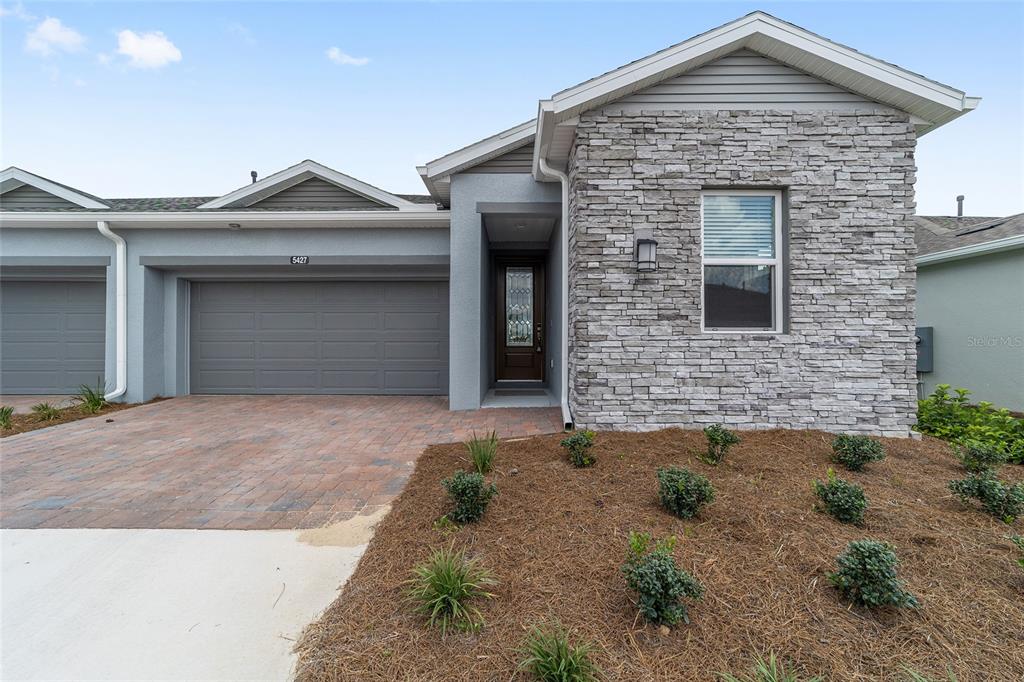
[(499, 260), (496, 265), (497, 378), (499, 381), (542, 381), (544, 262), (509, 259)]

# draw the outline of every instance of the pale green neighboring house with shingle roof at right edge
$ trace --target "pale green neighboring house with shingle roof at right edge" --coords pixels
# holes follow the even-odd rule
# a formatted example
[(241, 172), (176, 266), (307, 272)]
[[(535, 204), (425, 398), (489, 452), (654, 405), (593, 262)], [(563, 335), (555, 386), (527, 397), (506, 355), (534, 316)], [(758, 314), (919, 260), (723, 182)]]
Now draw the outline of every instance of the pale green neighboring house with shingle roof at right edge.
[(1024, 411), (1024, 213), (915, 222), (918, 326), (933, 346), (923, 393), (950, 384)]

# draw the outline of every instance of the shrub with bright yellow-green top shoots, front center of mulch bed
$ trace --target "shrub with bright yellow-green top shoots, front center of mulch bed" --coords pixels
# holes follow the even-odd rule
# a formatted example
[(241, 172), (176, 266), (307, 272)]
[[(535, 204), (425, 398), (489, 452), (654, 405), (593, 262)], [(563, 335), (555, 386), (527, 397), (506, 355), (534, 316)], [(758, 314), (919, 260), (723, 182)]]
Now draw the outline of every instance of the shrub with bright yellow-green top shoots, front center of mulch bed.
[(623, 565), (626, 584), (637, 593), (637, 608), (649, 623), (675, 625), (689, 623), (683, 599), (700, 599), (703, 586), (676, 565), (672, 550), (675, 538), (658, 541), (650, 547), (650, 535), (630, 534), (630, 553)]

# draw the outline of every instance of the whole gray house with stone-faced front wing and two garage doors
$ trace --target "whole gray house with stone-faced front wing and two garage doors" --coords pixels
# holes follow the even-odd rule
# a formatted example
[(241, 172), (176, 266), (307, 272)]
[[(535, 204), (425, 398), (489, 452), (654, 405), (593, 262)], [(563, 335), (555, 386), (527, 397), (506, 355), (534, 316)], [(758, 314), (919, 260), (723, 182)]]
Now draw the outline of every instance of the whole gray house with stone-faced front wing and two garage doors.
[(914, 144), (977, 103), (755, 12), (421, 167), (430, 203), (308, 161), (215, 199), (10, 169), (3, 390), (906, 435)]

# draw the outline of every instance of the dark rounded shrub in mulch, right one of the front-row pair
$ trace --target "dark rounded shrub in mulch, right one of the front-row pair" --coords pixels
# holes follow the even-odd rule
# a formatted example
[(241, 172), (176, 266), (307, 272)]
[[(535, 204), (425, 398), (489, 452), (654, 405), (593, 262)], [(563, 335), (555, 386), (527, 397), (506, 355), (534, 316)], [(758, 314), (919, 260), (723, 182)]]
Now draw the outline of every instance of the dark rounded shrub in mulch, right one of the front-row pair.
[(896, 577), (899, 560), (891, 545), (855, 540), (837, 562), (839, 569), (828, 573), (828, 580), (853, 603), (871, 607), (918, 605), (918, 599)]

